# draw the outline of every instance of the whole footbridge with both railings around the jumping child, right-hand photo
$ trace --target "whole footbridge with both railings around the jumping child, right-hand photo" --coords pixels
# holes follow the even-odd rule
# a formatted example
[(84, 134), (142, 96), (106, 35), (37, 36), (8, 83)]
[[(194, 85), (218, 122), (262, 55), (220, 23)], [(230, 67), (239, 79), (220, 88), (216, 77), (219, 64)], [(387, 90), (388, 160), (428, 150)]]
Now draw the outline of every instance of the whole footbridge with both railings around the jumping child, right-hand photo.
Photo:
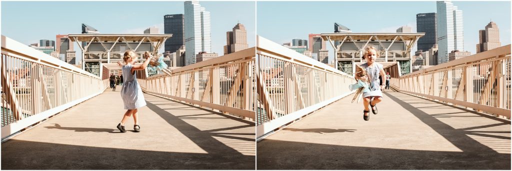
[(352, 76), (263, 37), (257, 61), (258, 169), (510, 169), (510, 45), (408, 75), (387, 66), (369, 121)]

